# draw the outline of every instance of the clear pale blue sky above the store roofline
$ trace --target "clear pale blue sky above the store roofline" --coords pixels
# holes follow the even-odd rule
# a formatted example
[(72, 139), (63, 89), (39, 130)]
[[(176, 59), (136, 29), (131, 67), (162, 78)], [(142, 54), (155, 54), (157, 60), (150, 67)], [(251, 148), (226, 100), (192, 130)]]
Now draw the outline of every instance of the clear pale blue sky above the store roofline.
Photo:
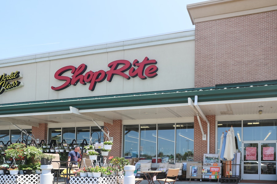
[(0, 59), (194, 29), (187, 4), (203, 1), (1, 1)]

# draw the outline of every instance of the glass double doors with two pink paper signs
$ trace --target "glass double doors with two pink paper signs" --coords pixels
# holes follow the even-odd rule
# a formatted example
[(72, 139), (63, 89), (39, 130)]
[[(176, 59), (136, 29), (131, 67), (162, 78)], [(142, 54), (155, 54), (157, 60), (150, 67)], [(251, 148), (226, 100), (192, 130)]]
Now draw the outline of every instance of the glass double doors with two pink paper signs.
[(243, 179), (276, 180), (276, 141), (243, 142)]

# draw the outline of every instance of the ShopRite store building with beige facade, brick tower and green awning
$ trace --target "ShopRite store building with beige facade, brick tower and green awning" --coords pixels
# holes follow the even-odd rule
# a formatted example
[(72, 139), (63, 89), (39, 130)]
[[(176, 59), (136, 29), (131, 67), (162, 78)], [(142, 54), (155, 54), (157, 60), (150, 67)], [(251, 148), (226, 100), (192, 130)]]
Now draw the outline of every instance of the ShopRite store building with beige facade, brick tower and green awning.
[(232, 125), (242, 178), (276, 180), (276, 6), (196, 3), (195, 30), (2, 59), (1, 140), (81, 143), (99, 125), (112, 155), (175, 163), (219, 153)]

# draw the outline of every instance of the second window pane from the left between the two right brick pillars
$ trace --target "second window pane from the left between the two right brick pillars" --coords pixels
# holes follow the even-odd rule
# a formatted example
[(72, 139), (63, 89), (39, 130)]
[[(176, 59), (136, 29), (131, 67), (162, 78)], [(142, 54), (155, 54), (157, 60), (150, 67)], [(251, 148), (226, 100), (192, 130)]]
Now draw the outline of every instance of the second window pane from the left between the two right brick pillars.
[(156, 124), (140, 125), (140, 159), (151, 160), (156, 155)]

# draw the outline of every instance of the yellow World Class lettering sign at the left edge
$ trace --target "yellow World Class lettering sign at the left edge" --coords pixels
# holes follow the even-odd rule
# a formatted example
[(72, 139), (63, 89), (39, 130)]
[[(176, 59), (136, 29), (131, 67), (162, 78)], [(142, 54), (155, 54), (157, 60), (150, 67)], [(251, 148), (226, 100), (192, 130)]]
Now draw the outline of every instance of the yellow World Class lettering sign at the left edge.
[(11, 72), (10, 75), (7, 75), (6, 73), (0, 75), (0, 94), (4, 93), (5, 90), (13, 90), (15, 88), (23, 86), (23, 83), (15, 80), (22, 78), (19, 73), (19, 71), (16, 71)]

